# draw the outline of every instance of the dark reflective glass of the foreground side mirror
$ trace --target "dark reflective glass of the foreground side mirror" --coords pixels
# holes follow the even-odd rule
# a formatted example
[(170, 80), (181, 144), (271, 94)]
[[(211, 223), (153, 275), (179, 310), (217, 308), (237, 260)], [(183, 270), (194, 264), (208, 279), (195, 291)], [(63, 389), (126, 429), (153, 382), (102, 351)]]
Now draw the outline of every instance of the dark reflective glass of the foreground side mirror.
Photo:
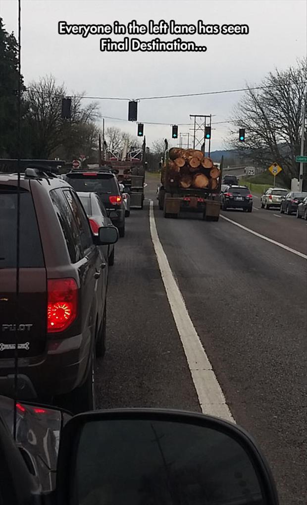
[(78, 505), (269, 505), (236, 440), (174, 421), (85, 424), (74, 473)]

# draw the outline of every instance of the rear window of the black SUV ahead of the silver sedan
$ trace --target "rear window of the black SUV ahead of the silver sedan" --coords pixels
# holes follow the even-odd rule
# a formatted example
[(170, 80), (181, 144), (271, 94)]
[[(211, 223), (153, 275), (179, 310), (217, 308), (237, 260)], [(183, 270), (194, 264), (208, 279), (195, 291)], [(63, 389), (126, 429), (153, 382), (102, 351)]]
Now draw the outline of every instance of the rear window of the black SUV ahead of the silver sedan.
[(113, 175), (67, 174), (67, 180), (73, 186), (75, 191), (93, 191), (100, 194), (119, 194), (119, 187)]

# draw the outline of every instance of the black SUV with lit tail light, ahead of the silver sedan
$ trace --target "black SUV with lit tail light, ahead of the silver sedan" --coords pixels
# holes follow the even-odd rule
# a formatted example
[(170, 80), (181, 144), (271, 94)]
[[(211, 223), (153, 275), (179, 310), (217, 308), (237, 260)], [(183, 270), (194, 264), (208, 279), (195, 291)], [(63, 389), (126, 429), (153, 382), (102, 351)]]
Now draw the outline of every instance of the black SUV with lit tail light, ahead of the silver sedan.
[(125, 236), (125, 202), (115, 175), (108, 170), (71, 171), (63, 175), (73, 188), (97, 193), (103, 202), (112, 223), (118, 228), (119, 236)]

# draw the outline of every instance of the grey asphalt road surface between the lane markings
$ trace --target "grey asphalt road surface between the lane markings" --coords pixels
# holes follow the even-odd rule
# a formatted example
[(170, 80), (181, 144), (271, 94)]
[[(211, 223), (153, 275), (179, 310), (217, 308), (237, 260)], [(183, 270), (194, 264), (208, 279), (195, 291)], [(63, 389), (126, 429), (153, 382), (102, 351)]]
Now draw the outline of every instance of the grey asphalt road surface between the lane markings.
[[(158, 179), (147, 177), (155, 201)], [(259, 205), (258, 205), (259, 204)], [(260, 207), (260, 200), (254, 199)], [(222, 213), (306, 254), (303, 220)], [(165, 219), (157, 229), (193, 325), (236, 422), (259, 442), (281, 505), (305, 505), (306, 262), (224, 219)], [(200, 411), (152, 246), (148, 203), (126, 222), (110, 274), (98, 406)]]

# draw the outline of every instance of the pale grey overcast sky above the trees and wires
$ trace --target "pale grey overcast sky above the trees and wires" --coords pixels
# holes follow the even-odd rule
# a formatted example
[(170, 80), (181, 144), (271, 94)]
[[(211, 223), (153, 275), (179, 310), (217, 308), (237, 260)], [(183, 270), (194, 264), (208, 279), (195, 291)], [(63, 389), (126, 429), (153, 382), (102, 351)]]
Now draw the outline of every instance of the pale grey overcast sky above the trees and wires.
[[(1, 0), (6, 29), (17, 33), (17, 1)], [(139, 98), (142, 96), (200, 93), (237, 89), (259, 84), (275, 67), (286, 69), (306, 54), (306, 2), (290, 1), (40, 1), (23, 0), (22, 73), (25, 82), (46, 74), (65, 83), (68, 94)], [(100, 52), (100, 35), (59, 35), (58, 22), (69, 24), (127, 24), (132, 19), (174, 19), (181, 24), (247, 24), (248, 35), (140, 35), (142, 40), (194, 40), (206, 45), (205, 53), (108, 53)], [(123, 35), (109, 35), (121, 40)], [(130, 35), (132, 37), (132, 35)], [(136, 36), (135, 36), (136, 37)], [(144, 100), (138, 105), (139, 122), (145, 125), (147, 143), (170, 138), (171, 124), (189, 123), (189, 114), (213, 114), (227, 121), (242, 93)], [(125, 101), (100, 100), (101, 114), (127, 119)], [(132, 134), (136, 125), (106, 119), (106, 127), (118, 126)], [(186, 133), (190, 126), (180, 126)], [(224, 148), (227, 123), (212, 132), (212, 150)]]

